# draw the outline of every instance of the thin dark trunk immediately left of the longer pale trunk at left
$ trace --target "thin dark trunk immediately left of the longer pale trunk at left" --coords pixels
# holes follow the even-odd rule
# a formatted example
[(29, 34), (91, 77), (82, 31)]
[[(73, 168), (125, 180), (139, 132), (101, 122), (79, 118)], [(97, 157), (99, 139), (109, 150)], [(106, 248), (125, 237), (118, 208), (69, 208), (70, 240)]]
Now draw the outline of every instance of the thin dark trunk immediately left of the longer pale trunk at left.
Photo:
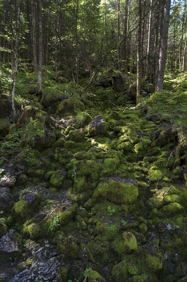
[(37, 71), (37, 41), (36, 41), (36, 6), (35, 6), (35, 0), (32, 0), (32, 44), (33, 44), (34, 71)]

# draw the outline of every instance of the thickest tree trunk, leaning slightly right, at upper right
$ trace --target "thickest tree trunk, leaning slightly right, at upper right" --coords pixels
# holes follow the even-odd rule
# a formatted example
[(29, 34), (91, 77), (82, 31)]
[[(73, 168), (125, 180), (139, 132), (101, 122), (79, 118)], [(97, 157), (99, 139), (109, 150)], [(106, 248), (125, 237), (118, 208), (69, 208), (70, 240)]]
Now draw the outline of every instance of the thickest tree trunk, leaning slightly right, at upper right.
[(163, 89), (163, 78), (164, 78), (165, 63), (167, 57), (170, 6), (171, 6), (171, 0), (164, 0), (163, 12), (162, 12), (162, 24), (160, 30), (160, 47), (159, 47), (156, 91), (161, 91)]

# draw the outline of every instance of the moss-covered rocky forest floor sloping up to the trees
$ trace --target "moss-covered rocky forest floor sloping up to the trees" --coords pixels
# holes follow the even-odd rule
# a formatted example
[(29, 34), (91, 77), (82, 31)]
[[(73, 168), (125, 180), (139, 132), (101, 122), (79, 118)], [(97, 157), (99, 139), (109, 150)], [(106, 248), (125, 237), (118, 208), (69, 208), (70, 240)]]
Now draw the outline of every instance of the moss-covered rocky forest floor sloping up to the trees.
[(15, 124), (2, 80), (0, 281), (187, 281), (185, 75), (137, 106), (128, 79), (85, 92), (46, 70), (37, 96), (35, 78)]

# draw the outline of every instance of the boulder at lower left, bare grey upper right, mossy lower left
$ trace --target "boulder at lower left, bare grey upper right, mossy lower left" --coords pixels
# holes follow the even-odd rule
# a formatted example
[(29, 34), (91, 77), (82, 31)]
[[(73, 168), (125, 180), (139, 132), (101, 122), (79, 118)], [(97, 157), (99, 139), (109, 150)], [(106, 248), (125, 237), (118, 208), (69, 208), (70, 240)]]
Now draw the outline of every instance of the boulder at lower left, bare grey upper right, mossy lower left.
[(36, 211), (38, 202), (39, 196), (36, 193), (24, 190), (19, 196), (19, 201), (12, 208), (12, 217), (23, 223)]

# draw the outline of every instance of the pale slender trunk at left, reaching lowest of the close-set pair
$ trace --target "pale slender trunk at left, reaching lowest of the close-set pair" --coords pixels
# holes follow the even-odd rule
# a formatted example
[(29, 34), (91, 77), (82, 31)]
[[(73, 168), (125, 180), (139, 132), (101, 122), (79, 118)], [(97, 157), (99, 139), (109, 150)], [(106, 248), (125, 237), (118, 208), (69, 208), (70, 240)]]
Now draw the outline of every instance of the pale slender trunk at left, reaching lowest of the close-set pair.
[(38, 0), (38, 82), (37, 82), (38, 94), (41, 93), (42, 58), (43, 58), (42, 3), (41, 0)]

